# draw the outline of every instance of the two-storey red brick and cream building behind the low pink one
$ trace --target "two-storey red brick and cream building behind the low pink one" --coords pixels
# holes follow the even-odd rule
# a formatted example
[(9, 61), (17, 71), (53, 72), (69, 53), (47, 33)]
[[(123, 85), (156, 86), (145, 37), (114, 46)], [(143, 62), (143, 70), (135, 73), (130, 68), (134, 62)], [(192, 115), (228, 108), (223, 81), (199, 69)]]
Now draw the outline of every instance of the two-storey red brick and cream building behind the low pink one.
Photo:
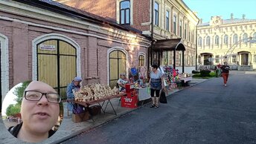
[[(176, 48), (169, 47), (165, 50), (161, 49), (160, 52), (163, 53), (155, 53), (154, 62), (159, 61), (160, 56), (161, 65), (177, 65), (177, 68), (185, 66), (185, 71), (188, 73), (195, 69), (196, 24), (199, 19), (182, 0), (56, 1), (95, 13), (118, 24), (129, 25), (141, 30), (147, 36), (152, 36), (153, 31), (153, 39), (156, 45), (160, 45), (160, 49), (164, 47), (161, 42), (163, 39), (167, 39), (167, 45), (176, 44)], [(152, 16), (154, 16), (153, 29)], [(178, 43), (176, 43), (177, 39)], [(173, 59), (174, 57), (176, 59)]]

